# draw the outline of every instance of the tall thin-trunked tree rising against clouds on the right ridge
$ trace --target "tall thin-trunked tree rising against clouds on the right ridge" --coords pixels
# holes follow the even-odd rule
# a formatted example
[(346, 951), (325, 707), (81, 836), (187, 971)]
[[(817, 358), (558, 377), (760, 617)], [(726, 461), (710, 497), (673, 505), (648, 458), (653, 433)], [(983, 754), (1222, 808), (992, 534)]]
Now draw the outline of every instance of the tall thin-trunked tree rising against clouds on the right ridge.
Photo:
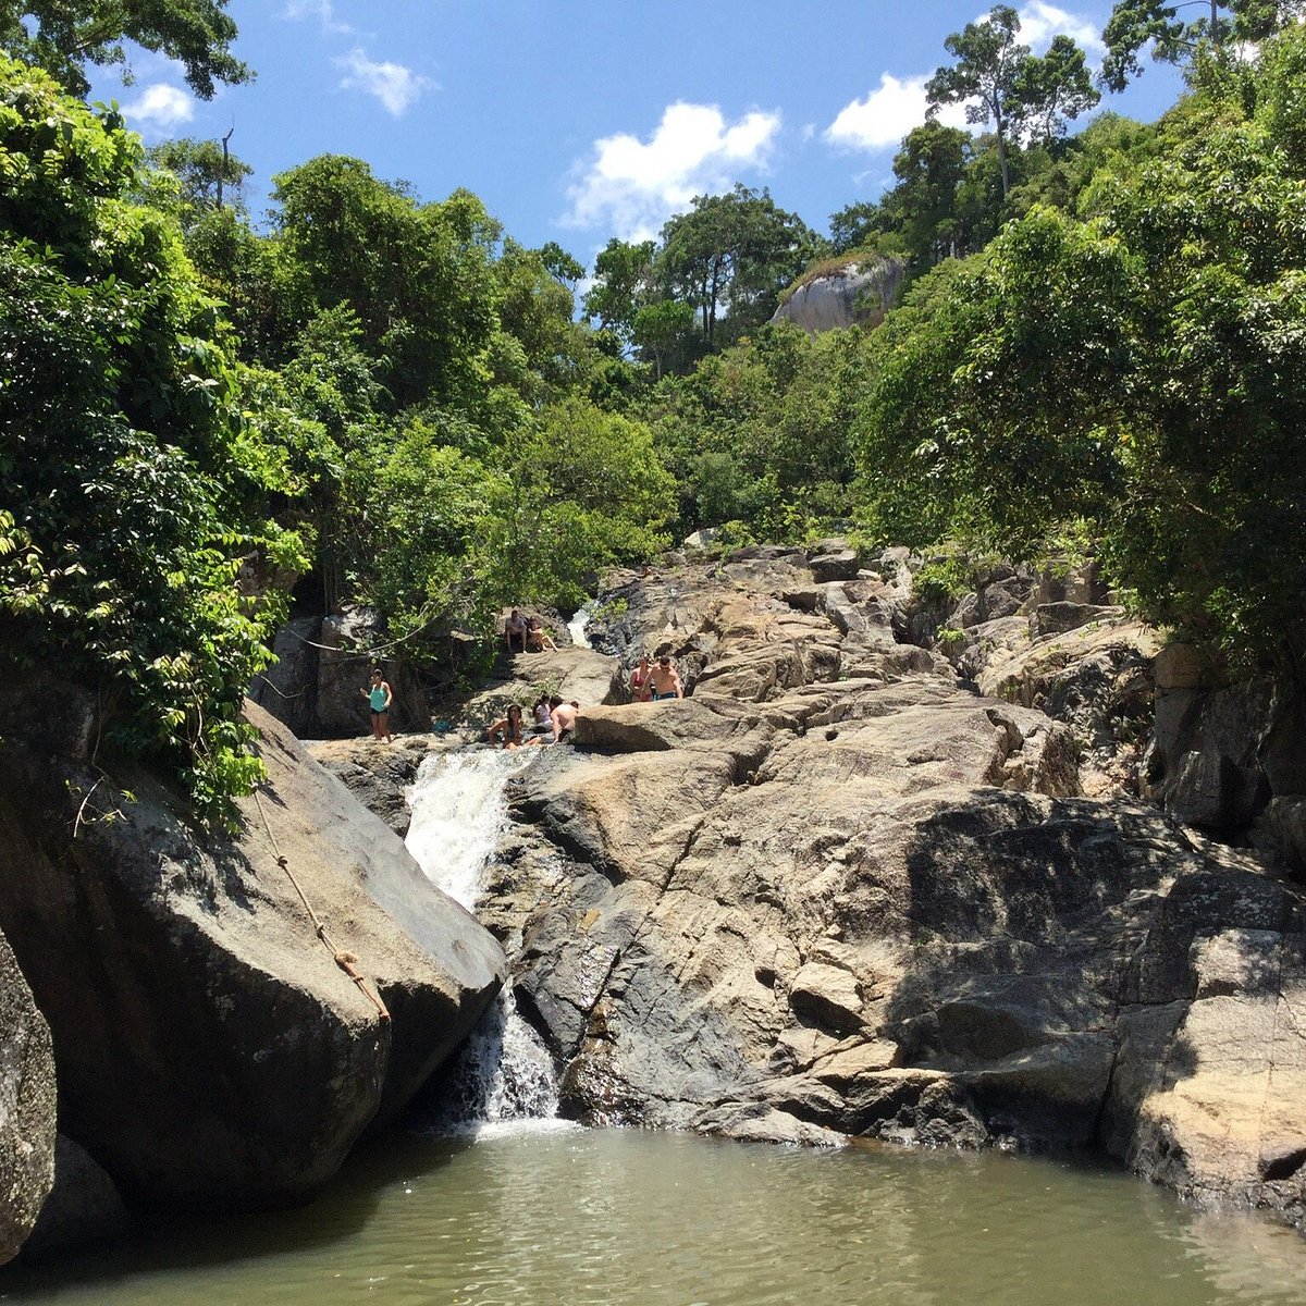
[(944, 40), (944, 48), (957, 61), (951, 68), (939, 68), (925, 84), (931, 116), (936, 116), (943, 104), (976, 101), (966, 103), (966, 121), (993, 123), (1004, 196), (1011, 189), (1007, 148), (1015, 125), (1012, 119), (1019, 121), (1017, 78), (1029, 57), (1029, 47), (1016, 43), (1019, 31), (1016, 10), (1011, 5), (994, 5), (987, 18), (968, 22)]

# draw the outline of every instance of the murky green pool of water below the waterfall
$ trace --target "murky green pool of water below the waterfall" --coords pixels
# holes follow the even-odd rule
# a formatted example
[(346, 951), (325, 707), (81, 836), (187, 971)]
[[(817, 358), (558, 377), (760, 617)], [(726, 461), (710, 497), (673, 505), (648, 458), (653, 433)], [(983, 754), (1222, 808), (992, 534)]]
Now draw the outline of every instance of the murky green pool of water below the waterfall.
[(306, 1209), (0, 1277), (0, 1299), (1301, 1306), (1306, 1242), (1062, 1162), (508, 1128), (393, 1140)]

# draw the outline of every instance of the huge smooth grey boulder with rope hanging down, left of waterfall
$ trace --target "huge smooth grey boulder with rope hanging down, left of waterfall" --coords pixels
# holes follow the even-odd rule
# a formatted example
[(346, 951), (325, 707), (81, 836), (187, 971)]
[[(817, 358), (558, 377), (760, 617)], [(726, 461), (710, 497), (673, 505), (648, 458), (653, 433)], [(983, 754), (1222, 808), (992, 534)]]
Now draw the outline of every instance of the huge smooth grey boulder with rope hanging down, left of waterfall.
[(0, 748), (0, 923), (50, 1021), (60, 1128), (136, 1207), (302, 1198), (471, 1028), (498, 946), (259, 708), (269, 780), (223, 838), (89, 764), (78, 691), (42, 697), (39, 733)]

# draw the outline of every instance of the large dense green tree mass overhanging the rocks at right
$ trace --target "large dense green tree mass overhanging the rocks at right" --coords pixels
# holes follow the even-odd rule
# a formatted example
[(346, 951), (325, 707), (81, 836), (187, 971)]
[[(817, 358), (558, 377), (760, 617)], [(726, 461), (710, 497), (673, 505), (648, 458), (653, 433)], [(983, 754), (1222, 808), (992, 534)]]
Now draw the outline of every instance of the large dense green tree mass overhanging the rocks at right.
[(1036, 208), (917, 287), (867, 406), (889, 517), (914, 502), (926, 529), (1025, 552), (1087, 518), (1151, 620), (1284, 653), (1306, 586), (1303, 67), (1294, 25), (1251, 74), (1258, 120), (1239, 84), (1164, 154), (1118, 157), (1087, 221)]

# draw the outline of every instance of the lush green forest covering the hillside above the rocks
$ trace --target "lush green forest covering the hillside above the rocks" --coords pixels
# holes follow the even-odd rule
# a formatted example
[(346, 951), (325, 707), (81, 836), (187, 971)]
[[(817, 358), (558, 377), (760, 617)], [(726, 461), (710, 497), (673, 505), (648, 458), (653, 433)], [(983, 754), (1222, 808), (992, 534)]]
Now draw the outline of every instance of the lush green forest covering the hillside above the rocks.
[[(1096, 82), (999, 5), (929, 85), (977, 132), (910, 132), (828, 235), (737, 185), (593, 269), (343, 155), (255, 221), (217, 142), (146, 153), (78, 98), (123, 39), (201, 94), (247, 76), (222, 4), (118, 8), (0, 5), (0, 640), (9, 675), (95, 686), (97, 729), (201, 811), (257, 774), (240, 696), (290, 584), (421, 653), (696, 528), (838, 529), (1093, 550), (1151, 620), (1299, 653), (1299, 5), (1124, 0)], [(1068, 135), (1144, 51), (1183, 99)], [(883, 324), (769, 324), (804, 274), (883, 257), (910, 279)]]

